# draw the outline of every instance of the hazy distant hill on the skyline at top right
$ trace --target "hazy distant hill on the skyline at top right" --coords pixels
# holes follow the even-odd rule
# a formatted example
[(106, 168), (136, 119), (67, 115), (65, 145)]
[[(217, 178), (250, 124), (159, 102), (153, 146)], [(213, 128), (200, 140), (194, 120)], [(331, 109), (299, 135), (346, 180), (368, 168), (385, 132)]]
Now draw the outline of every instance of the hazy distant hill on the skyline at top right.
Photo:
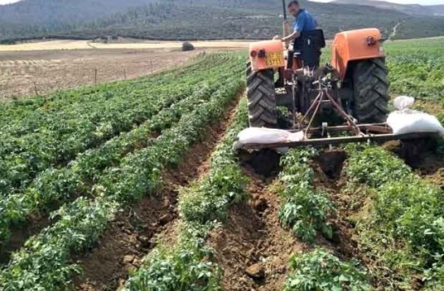
[(382, 9), (396, 10), (410, 15), (444, 15), (444, 5), (418, 5), (418, 4), (397, 4), (380, 0), (335, 0), (336, 4), (356, 4), (364, 6), (373, 6)]

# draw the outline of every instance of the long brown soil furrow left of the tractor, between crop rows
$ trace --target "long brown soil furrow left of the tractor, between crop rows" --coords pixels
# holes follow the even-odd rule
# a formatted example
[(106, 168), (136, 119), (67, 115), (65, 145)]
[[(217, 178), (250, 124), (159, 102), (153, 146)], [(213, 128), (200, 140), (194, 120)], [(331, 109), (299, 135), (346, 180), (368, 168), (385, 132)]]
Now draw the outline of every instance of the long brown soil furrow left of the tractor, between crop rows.
[(163, 172), (164, 189), (125, 209), (94, 249), (77, 256), (84, 272), (75, 278), (75, 289), (115, 290), (125, 283), (129, 271), (137, 268), (141, 259), (160, 241), (174, 245), (179, 188), (207, 173), (210, 155), (224, 137), (239, 98), (240, 94), (223, 118), (207, 128), (202, 141), (191, 147), (181, 164)]

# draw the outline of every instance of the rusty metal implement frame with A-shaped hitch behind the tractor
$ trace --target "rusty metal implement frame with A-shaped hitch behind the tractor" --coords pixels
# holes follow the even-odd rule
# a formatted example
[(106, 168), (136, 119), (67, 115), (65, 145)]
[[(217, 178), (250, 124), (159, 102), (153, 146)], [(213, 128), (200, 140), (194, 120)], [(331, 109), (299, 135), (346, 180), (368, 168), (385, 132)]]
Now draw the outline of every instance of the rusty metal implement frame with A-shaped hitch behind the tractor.
[[(260, 150), (260, 149), (277, 149), (277, 148), (294, 148), (304, 146), (332, 146), (334, 144), (351, 143), (351, 142), (366, 142), (366, 141), (389, 141), (389, 140), (408, 140), (417, 138), (426, 138), (433, 136), (435, 132), (415, 132), (406, 134), (393, 134), (392, 130), (386, 123), (379, 124), (357, 124), (357, 121), (349, 116), (339, 106), (338, 102), (329, 93), (331, 90), (331, 83), (327, 78), (319, 79), (313, 84), (318, 85), (319, 94), (311, 104), (305, 116), (296, 125), (297, 129), (289, 130), (290, 132), (304, 132), (304, 139), (292, 142), (278, 142), (278, 143), (250, 143), (243, 146), (244, 149)], [(347, 122), (347, 125), (328, 127), (327, 123), (323, 123), (322, 127), (311, 127), (315, 116), (319, 113), (320, 105), (323, 103), (330, 103), (332, 107), (341, 115)], [(303, 127), (304, 120), (308, 120), (310, 112), (313, 111), (309, 119), (308, 126)], [(353, 136), (339, 136), (331, 137), (330, 132), (353, 132)], [(321, 134), (323, 138), (311, 138), (312, 134)]]

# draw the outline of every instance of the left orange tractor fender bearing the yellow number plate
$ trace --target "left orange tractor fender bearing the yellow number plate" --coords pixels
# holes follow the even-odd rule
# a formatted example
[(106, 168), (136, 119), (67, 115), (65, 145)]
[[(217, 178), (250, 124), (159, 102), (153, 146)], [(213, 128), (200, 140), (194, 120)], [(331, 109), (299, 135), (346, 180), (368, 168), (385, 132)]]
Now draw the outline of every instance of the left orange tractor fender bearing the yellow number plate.
[(249, 56), (253, 71), (283, 67), (284, 43), (281, 40), (264, 40), (250, 43)]

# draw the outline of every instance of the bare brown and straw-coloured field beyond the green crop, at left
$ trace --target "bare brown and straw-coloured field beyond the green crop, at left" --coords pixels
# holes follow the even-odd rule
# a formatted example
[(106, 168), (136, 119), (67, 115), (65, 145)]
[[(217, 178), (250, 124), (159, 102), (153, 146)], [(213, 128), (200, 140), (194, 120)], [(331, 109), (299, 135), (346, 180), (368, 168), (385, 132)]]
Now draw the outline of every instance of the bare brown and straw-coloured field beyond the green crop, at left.
[(246, 41), (182, 42), (122, 39), (115, 43), (50, 40), (0, 45), (0, 102), (32, 94), (132, 79), (180, 65), (204, 51), (239, 50)]

